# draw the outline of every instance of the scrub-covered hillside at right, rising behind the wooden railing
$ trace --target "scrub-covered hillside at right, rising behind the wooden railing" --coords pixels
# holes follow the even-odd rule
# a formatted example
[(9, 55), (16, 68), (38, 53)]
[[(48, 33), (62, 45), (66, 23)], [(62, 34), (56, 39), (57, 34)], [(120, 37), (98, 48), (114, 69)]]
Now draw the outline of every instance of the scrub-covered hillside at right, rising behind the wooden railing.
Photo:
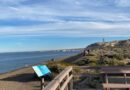
[(129, 65), (130, 39), (94, 43), (85, 48), (86, 55), (76, 60), (77, 65)]

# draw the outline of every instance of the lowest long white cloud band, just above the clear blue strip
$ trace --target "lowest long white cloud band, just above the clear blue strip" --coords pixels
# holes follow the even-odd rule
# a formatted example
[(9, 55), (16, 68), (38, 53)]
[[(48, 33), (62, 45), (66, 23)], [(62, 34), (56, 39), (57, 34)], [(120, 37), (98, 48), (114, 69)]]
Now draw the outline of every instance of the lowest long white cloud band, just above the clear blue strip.
[[(51, 27), (49, 27), (51, 26)], [(122, 32), (123, 30), (123, 32)], [(1, 36), (110, 37), (129, 36), (130, 23), (62, 22), (47, 25), (3, 27)]]

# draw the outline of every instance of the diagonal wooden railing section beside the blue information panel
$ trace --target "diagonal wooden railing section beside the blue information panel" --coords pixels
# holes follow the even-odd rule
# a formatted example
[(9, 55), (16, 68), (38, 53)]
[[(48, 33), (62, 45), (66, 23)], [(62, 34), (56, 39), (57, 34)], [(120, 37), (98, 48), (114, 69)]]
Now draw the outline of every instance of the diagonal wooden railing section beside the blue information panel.
[(72, 90), (72, 89), (73, 89), (72, 67), (65, 68), (46, 87), (42, 87), (42, 90)]

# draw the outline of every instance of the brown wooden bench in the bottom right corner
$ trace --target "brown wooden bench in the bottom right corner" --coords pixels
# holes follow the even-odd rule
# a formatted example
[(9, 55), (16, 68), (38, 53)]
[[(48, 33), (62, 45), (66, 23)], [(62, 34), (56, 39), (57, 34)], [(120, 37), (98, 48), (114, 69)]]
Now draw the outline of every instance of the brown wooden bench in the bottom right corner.
[[(103, 78), (105, 79), (105, 83), (102, 84), (103, 90), (110, 89), (125, 89), (130, 90), (130, 84), (127, 82), (127, 76), (130, 76), (130, 67), (120, 66), (120, 67), (107, 67), (101, 68)], [(109, 76), (121, 76), (123, 77), (124, 83), (109, 83)]]

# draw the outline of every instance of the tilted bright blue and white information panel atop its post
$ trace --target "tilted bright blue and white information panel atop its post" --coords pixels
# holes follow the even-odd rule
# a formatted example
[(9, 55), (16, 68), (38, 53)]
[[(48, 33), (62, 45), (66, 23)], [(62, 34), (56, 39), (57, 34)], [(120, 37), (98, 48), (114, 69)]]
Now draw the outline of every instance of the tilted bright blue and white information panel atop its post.
[(42, 76), (45, 76), (45, 75), (51, 73), (51, 71), (49, 70), (49, 68), (46, 65), (33, 66), (32, 68), (34, 69), (34, 71), (36, 72), (38, 77), (42, 77)]

